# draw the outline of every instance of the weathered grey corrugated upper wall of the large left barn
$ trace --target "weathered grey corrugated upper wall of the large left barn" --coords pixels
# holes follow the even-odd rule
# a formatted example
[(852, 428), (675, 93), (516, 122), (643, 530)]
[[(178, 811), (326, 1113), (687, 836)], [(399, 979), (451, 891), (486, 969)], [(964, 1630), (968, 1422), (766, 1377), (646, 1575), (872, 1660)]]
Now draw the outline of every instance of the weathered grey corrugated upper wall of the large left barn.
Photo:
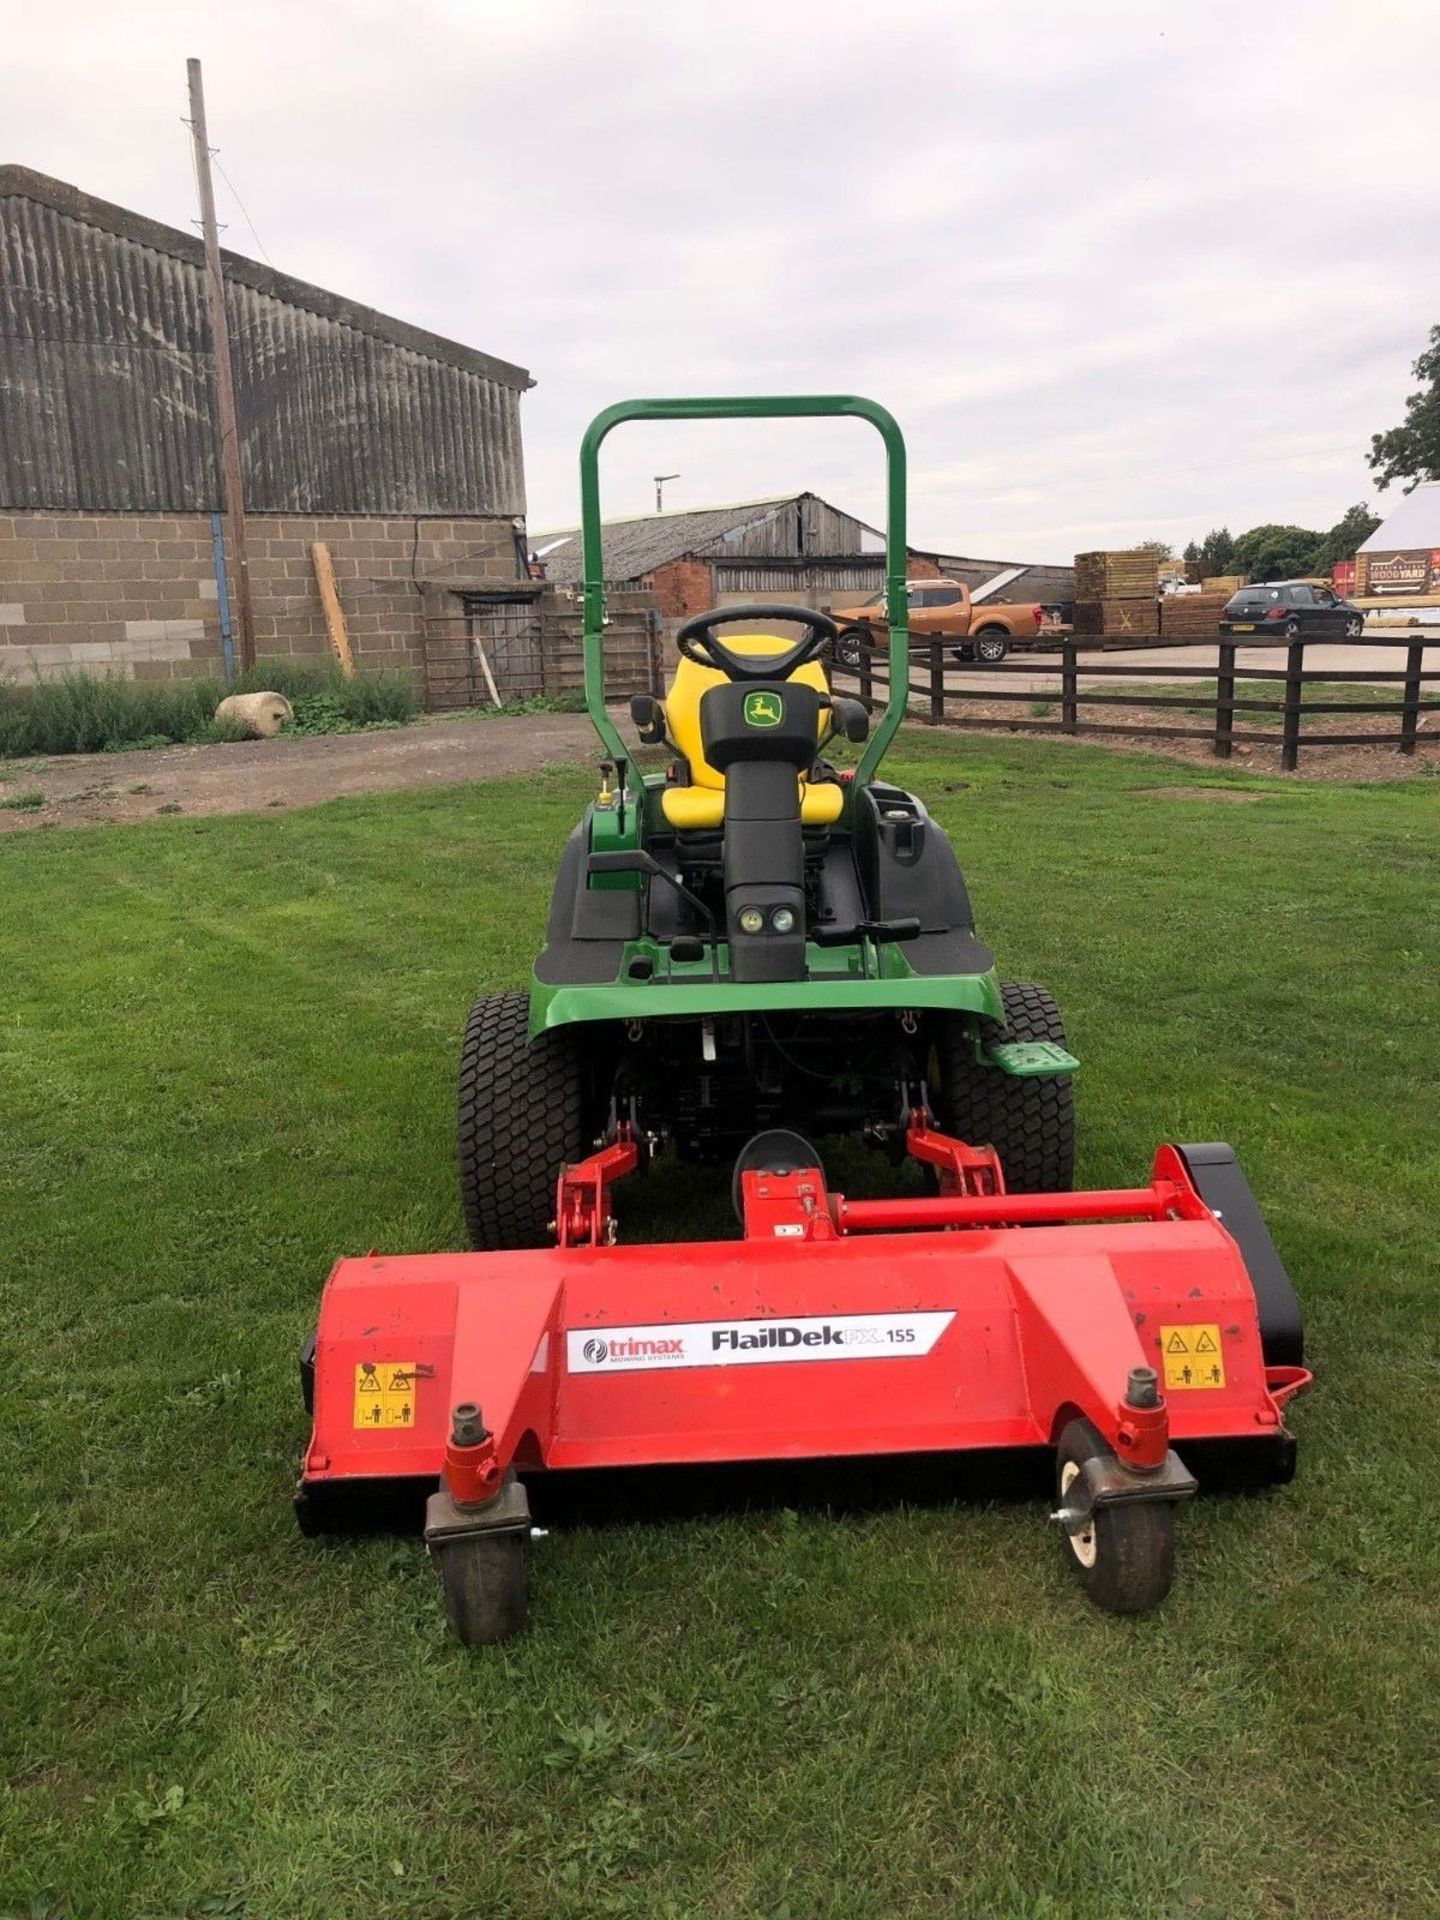
[[(252, 513), (522, 515), (522, 367), (223, 253)], [(0, 167), (0, 505), (219, 503), (202, 242)]]

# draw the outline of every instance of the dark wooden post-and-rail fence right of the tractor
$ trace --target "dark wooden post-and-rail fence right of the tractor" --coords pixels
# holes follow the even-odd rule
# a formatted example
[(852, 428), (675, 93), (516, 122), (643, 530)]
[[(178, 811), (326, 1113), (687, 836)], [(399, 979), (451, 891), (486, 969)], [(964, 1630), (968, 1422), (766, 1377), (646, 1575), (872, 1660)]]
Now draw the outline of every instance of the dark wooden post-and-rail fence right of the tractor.
[[(1427, 689), (1440, 682), (1440, 664), (1427, 668), (1427, 647), (1440, 660), (1440, 639), (1409, 639), (1405, 645), (1404, 668), (1334, 668), (1306, 666), (1306, 647), (1338, 645), (1325, 641), (1292, 639), (1284, 643), (1284, 664), (1275, 666), (1236, 666), (1238, 651), (1254, 653), (1244, 641), (1231, 639), (1188, 639), (1165, 645), (1165, 653), (1177, 655), (1171, 664), (1148, 659), (1144, 664), (1119, 664), (1114, 655), (1106, 660), (1081, 660), (1083, 653), (1092, 653), (1104, 641), (1085, 639), (1083, 643), (1066, 639), (1060, 643), (1060, 657), (1052, 653), (1010, 655), (1000, 666), (968, 666), (952, 657), (952, 643), (931, 639), (916, 641), (910, 647), (910, 710), (914, 718), (931, 726), (952, 726), (972, 730), (995, 730), (996, 726), (1018, 728), (1025, 733), (1129, 733), (1158, 739), (1204, 739), (1212, 743), (1217, 760), (1229, 760), (1236, 743), (1279, 747), (1281, 766), (1294, 772), (1300, 749), (1313, 747), (1396, 747), (1400, 753), (1415, 753), (1421, 716), (1440, 712), (1440, 699), (1427, 697)], [(1196, 647), (1206, 647), (1217, 655), (1217, 664), (1183, 664), (1183, 657)], [(1344, 647), (1384, 647), (1394, 651), (1394, 639), (1346, 639)], [(1150, 649), (1146, 649), (1150, 651)], [(1156, 649), (1158, 651), (1158, 649)], [(1275, 649), (1279, 655), (1279, 647)], [(883, 649), (866, 653), (858, 668), (833, 668), (837, 691), (858, 689), (868, 707), (883, 705), (889, 687), (889, 670)], [(1023, 687), (1006, 682), (1023, 680)], [(1081, 682), (1102, 682), (1102, 685), (1081, 685)], [(1037, 685), (1044, 682), (1044, 685)], [(1054, 695), (1050, 693), (1054, 682)], [(1108, 691), (1110, 684), (1116, 691)], [(1173, 693), (1156, 691), (1156, 682), (1179, 682)], [(1185, 682), (1213, 682), (1213, 693), (1202, 687), (1185, 691)], [(1127, 684), (1127, 691), (1119, 691)], [(1396, 699), (1346, 701), (1334, 699), (1327, 691), (1319, 697), (1306, 697), (1308, 687), (1346, 685), (1398, 687)], [(1279, 699), (1256, 697), (1263, 685), (1277, 687)], [(991, 705), (995, 701), (1023, 703), (1035, 707), (1044, 699), (1054, 699), (1056, 718), (1027, 716), (996, 720), (987, 714), (966, 712), (966, 707)], [(1106, 720), (1104, 708), (1150, 708), (1175, 710), (1171, 724), (1140, 724), (1133, 720)], [(1087, 708), (1100, 708), (1100, 718), (1091, 718)], [(1236, 726), (1236, 714), (1275, 714), (1279, 728), (1261, 730), (1246, 724)], [(1302, 732), (1302, 720), (1315, 714), (1369, 714), (1394, 716), (1398, 726), (1386, 733), (1315, 733)]]

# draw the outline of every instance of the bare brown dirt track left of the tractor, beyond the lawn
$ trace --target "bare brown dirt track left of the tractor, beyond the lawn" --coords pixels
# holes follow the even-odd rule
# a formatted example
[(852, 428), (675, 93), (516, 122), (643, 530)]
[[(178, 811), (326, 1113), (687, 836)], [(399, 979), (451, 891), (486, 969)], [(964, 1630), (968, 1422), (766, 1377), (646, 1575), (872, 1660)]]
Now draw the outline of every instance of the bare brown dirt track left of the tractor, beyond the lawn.
[[(0, 833), (177, 812), (313, 806), (346, 793), (493, 780), (595, 755), (595, 735), (584, 714), (516, 714), (513, 720), (426, 720), (384, 733), (253, 739), (234, 747), (0, 760)], [(42, 793), (44, 804), (15, 806), (33, 793)]]

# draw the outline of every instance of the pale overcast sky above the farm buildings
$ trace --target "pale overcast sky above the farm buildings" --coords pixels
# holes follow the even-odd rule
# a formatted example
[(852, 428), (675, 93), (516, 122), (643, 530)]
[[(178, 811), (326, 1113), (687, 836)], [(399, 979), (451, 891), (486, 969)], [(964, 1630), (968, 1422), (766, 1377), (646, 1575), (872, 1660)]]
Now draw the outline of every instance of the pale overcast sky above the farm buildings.
[[(532, 530), (574, 520), (607, 401), (806, 390), (899, 415), (918, 545), (1329, 526), (1377, 499), (1369, 434), (1440, 321), (1434, 0), (0, 0), (0, 159), (177, 227), (200, 54), (227, 246), (532, 371)], [(632, 426), (603, 472), (611, 515), (655, 472), (682, 474), (666, 507), (881, 511), (858, 422)]]

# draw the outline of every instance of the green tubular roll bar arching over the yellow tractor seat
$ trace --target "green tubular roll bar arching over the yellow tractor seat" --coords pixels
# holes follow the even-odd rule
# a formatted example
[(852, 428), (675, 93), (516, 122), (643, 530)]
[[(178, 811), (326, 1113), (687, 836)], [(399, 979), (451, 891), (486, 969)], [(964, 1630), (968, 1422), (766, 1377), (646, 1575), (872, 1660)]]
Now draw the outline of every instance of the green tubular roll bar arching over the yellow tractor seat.
[(586, 572), (586, 708), (601, 745), (620, 760), (630, 749), (605, 712), (605, 541), (599, 509), (599, 449), (622, 420), (799, 420), (852, 415), (870, 420), (885, 442), (885, 611), (889, 616), (891, 691), (879, 726), (854, 770), (864, 787), (885, 758), (910, 699), (910, 620), (904, 599), (904, 436), (891, 413), (858, 394), (783, 394), (766, 399), (708, 396), (697, 399), (620, 399), (605, 407), (580, 442), (580, 541)]

